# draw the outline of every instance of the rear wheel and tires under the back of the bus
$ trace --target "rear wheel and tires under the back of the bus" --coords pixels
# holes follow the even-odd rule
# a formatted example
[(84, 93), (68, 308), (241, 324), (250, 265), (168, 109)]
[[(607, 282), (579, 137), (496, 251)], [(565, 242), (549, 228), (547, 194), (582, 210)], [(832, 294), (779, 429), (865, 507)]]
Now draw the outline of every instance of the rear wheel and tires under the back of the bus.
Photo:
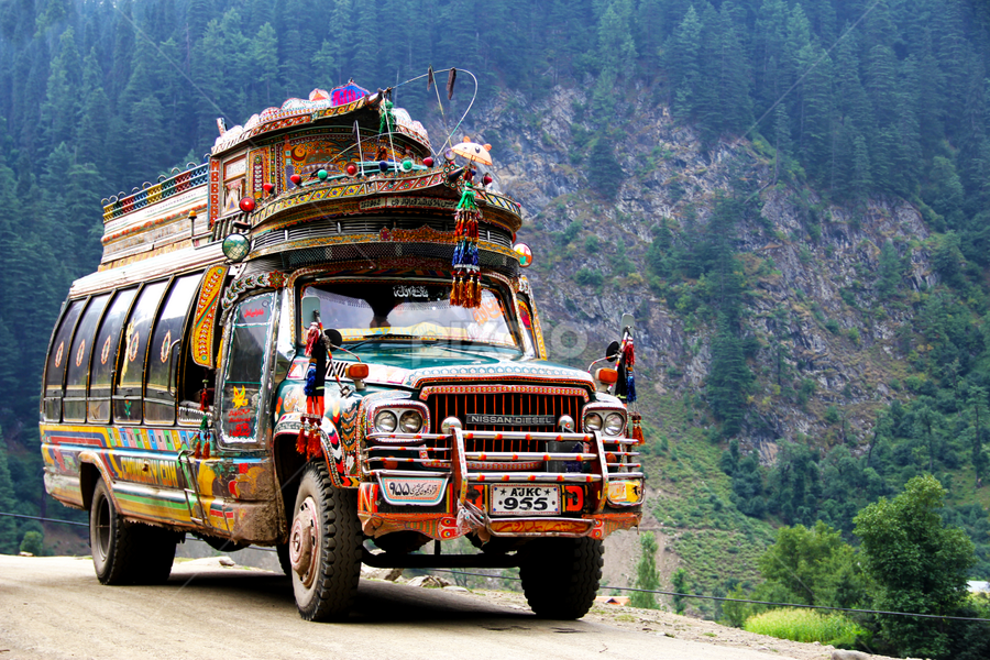
[(172, 573), (173, 531), (121, 518), (110, 490), (100, 479), (89, 507), (92, 565), (102, 584), (161, 584)]

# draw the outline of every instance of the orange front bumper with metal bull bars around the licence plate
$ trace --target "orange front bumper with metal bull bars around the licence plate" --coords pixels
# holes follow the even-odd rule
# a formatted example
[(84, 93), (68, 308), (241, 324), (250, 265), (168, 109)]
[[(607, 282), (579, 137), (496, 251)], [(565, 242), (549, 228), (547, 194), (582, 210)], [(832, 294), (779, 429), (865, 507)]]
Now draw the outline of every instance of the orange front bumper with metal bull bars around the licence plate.
[[(644, 473), (636, 441), (594, 433), (369, 433), (359, 517), (378, 537), (591, 537), (639, 525)], [(398, 484), (398, 485), (397, 485)], [(496, 513), (492, 485), (558, 490), (553, 515)]]

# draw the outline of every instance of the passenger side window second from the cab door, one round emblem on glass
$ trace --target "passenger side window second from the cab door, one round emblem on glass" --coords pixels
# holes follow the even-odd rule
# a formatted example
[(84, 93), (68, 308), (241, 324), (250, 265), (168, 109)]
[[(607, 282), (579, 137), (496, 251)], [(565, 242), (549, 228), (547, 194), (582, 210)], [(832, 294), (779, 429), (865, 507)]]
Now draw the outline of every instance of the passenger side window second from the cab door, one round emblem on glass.
[(141, 389), (147, 340), (152, 321), (167, 286), (167, 282), (155, 282), (141, 289), (141, 295), (138, 296), (138, 301), (121, 331), (121, 351), (117, 359), (117, 386), (113, 389), (114, 421), (141, 421)]

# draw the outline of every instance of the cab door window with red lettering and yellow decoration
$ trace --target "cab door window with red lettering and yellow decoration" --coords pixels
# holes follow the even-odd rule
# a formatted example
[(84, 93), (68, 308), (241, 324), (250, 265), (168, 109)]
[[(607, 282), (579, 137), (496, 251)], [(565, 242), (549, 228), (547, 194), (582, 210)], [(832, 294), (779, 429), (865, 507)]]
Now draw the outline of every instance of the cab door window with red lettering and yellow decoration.
[(275, 294), (241, 301), (231, 323), (230, 344), (223, 356), (220, 400), (220, 439), (223, 443), (253, 442), (267, 373)]

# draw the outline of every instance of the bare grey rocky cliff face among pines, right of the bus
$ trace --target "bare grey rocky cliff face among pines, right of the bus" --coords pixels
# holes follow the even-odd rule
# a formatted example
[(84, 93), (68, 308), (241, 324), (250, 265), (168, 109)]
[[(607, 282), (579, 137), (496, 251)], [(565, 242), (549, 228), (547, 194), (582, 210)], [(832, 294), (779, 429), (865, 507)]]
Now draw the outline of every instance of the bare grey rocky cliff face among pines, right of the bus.
[[(575, 89), (557, 88), (532, 105), (504, 92), (463, 129), (493, 144), (494, 185), (528, 216), (518, 239), (534, 248), (529, 276), (551, 358), (586, 365), (617, 338), (619, 316), (630, 311), (640, 391), (703, 396), (714, 329), (683, 301), (679, 307), (670, 289), (661, 295), (646, 255), (651, 229), (663, 221), (676, 235), (691, 222), (704, 227), (716, 191), (741, 177), (761, 189), (759, 212), (738, 222), (732, 237), (748, 283), (746, 332), (760, 346), (750, 360), (757, 382), (741, 444), (759, 449), (765, 461), (778, 440), (799, 433), (861, 450), (876, 409), (897, 395), (889, 386), (903, 360), (897, 329), (912, 314), (878, 301), (884, 242), (904, 264), (902, 293), (935, 282), (917, 210), (900, 199), (827, 206), (814, 190), (780, 183), (783, 177), (774, 184), (772, 150), (747, 140), (704, 150), (646, 91), (619, 110), (641, 119), (610, 138), (609, 165), (590, 146), (602, 135), (585, 101)], [(444, 133), (432, 127), (431, 134), (436, 142)], [(622, 169), (614, 173), (620, 174), (614, 199), (593, 186), (609, 166)], [(581, 268), (600, 272), (602, 282), (579, 284)], [(813, 388), (805, 402), (795, 395), (801, 383)], [(832, 405), (844, 410), (840, 424), (825, 419)]]

